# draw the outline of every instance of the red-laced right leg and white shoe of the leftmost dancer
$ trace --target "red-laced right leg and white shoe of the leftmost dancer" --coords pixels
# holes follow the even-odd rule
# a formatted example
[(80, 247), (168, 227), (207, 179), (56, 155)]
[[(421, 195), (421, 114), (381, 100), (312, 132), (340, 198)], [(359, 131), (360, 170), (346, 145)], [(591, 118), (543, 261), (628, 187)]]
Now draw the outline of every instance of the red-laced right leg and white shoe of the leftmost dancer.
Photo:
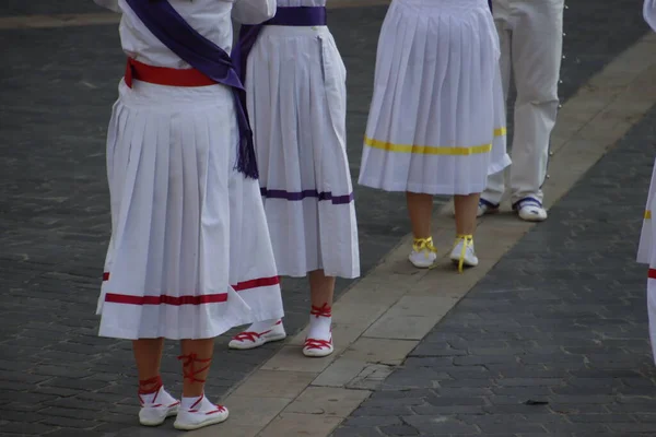
[(183, 340), (183, 401), (174, 426), (177, 429), (198, 429), (227, 418), (227, 409), (214, 405), (204, 395), (204, 382), (210, 371), (214, 339)]

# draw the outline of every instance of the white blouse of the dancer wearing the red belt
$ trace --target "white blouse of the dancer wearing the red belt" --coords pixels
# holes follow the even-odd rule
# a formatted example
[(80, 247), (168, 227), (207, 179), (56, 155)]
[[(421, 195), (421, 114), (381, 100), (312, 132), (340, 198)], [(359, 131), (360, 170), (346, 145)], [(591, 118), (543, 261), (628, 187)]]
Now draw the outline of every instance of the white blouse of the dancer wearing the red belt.
[[(126, 0), (94, 0), (122, 13), (119, 33), (124, 51), (156, 67), (189, 68), (162, 44), (139, 20)], [(276, 0), (168, 0), (191, 27), (230, 54), (233, 42), (231, 16), (239, 23), (258, 24), (276, 14)]]

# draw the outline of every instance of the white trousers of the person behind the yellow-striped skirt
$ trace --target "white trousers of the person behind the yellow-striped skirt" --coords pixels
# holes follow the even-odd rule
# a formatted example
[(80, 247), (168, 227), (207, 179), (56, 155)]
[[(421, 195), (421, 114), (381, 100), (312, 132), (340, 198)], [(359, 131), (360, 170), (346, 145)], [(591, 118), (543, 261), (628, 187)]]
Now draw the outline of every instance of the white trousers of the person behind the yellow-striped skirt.
[[(549, 140), (558, 113), (563, 47), (564, 0), (492, 0), (501, 44), (501, 72), (507, 101), (515, 76), (511, 201), (542, 202)], [(503, 172), (488, 178), (482, 198), (497, 204), (505, 190)]]

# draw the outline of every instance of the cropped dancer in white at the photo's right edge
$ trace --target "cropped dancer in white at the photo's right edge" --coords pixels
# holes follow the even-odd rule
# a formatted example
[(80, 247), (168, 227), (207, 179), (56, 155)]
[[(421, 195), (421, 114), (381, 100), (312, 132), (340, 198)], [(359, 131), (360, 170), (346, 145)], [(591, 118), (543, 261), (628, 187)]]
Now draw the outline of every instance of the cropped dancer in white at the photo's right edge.
[[(656, 32), (656, 0), (645, 0), (643, 14), (645, 21)], [(656, 139), (654, 139), (654, 142), (656, 142)], [(647, 274), (647, 312), (649, 316), (652, 353), (656, 363), (656, 239), (654, 239), (654, 236), (656, 236), (656, 221), (652, 216), (653, 211), (656, 211), (656, 162), (654, 162), (654, 169), (652, 172), (649, 196), (647, 197), (647, 206), (645, 209), (637, 249), (637, 262), (649, 264)]]

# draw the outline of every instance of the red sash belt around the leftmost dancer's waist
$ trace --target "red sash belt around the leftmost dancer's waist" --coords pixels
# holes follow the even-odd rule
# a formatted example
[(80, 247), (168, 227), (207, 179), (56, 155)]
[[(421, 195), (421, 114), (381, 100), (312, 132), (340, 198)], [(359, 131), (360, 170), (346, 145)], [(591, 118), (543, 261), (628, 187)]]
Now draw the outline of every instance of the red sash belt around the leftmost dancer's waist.
[(209, 86), (216, 82), (196, 69), (172, 69), (153, 67), (128, 58), (126, 66), (126, 85), (132, 87), (132, 80), (167, 86)]

